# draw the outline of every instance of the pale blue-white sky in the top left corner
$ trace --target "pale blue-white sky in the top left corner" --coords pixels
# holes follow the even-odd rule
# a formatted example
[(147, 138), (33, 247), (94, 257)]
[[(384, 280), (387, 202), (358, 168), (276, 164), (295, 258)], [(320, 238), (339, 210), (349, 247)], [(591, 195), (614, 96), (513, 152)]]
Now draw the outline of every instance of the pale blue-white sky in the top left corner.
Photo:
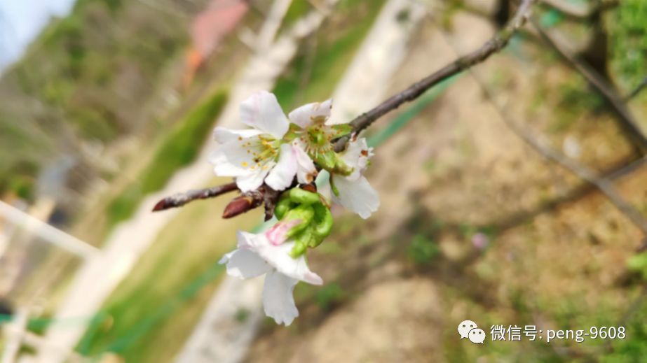
[(69, 13), (75, 0), (0, 0), (0, 72), (20, 58), (52, 16)]

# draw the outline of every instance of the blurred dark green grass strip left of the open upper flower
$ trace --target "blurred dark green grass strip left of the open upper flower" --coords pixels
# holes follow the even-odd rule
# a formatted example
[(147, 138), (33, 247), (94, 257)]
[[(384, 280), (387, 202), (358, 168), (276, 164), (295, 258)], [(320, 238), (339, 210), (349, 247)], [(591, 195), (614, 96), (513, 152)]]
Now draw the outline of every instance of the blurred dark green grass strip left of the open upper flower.
[(224, 91), (214, 92), (165, 136), (137, 183), (128, 186), (109, 204), (109, 226), (130, 218), (146, 194), (161, 190), (177, 169), (196, 159), (226, 99)]

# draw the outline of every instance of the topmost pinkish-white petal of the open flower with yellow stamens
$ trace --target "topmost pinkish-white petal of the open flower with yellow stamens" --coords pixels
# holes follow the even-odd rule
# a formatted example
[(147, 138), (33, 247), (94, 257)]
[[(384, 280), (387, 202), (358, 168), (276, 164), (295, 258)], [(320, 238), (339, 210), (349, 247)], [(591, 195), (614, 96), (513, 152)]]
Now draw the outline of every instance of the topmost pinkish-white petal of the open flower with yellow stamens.
[(260, 91), (240, 104), (240, 118), (243, 123), (282, 138), (290, 127), (276, 97), (267, 91)]

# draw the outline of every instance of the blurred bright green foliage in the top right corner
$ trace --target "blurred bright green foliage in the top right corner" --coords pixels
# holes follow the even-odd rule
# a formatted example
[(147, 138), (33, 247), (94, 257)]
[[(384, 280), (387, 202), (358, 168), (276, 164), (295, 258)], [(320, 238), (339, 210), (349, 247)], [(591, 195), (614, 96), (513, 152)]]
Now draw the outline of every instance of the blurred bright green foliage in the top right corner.
[(647, 1), (622, 0), (608, 21), (611, 67), (625, 90), (636, 87), (647, 73), (646, 19)]

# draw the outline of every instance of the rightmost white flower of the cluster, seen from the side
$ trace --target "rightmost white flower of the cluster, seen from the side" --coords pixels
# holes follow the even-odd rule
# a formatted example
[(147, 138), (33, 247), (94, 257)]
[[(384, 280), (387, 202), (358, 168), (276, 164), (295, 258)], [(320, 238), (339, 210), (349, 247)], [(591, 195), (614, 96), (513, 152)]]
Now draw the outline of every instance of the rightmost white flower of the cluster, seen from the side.
[(332, 200), (366, 219), (380, 206), (377, 192), (362, 175), (367, 168), (373, 148), (369, 148), (366, 138), (351, 138), (348, 147), (341, 153), (341, 159), (353, 172), (348, 176), (331, 174), (331, 183), (338, 194), (332, 194)]

